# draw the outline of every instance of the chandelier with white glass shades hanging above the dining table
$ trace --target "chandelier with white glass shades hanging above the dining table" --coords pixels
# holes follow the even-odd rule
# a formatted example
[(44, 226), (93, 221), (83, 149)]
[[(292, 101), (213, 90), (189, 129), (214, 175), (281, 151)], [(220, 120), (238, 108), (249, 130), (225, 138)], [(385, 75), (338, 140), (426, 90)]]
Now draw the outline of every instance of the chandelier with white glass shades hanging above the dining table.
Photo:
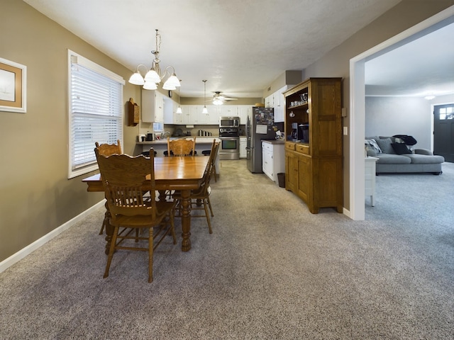
[[(160, 84), (162, 79), (164, 79), (164, 77), (167, 74), (169, 78), (165, 81), (164, 85), (162, 86), (162, 89), (175, 90), (175, 89), (177, 89), (177, 87), (181, 86), (181, 84), (179, 84), (177, 75), (175, 74), (175, 68), (173, 66), (167, 66), (161, 75), (161, 69), (159, 66), (160, 46), (161, 46), (161, 35), (159, 34), (159, 31), (156, 30), (156, 50), (151, 51), (151, 53), (155, 56), (155, 60), (153, 60), (151, 69), (148, 70), (148, 72), (145, 74), (145, 77), (142, 77), (142, 74), (140, 74), (140, 71), (139, 71), (140, 67), (143, 66), (143, 67), (145, 67), (145, 69), (148, 69), (148, 67), (146, 67), (144, 64), (139, 64), (137, 66), (136, 71), (129, 79), (129, 82), (131, 84), (142, 85), (143, 89), (145, 89), (145, 90), (155, 90), (155, 89), (157, 89), (157, 84)], [(170, 72), (170, 69), (172, 69), (172, 72)]]

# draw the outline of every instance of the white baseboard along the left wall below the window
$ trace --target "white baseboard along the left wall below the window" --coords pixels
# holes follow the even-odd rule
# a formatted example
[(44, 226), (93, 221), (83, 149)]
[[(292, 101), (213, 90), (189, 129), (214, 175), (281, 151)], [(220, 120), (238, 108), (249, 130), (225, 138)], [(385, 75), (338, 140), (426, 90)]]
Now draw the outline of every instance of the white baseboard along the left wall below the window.
[(6, 269), (9, 268), (10, 266), (12, 266), (14, 263), (21, 261), (21, 259), (26, 257), (28, 254), (31, 254), (33, 251), (38, 249), (40, 246), (43, 246), (43, 244), (49, 242), (51, 239), (56, 237), (58, 234), (64, 232), (66, 229), (69, 229), (70, 227), (72, 227), (72, 225), (76, 224), (80, 220), (83, 220), (85, 217), (87, 217), (92, 212), (94, 212), (94, 210), (100, 208), (101, 206), (104, 207), (104, 202), (105, 202), (104, 200), (101, 200), (101, 202), (96, 203), (91, 208), (88, 208), (87, 210), (81, 212), (76, 217), (65, 222), (63, 225), (60, 225), (60, 227), (53, 229), (52, 232), (49, 232), (48, 234), (45, 234), (40, 239), (37, 239), (35, 242), (28, 244), (28, 246), (26, 246), (25, 248), (16, 252), (16, 254), (9, 256), (8, 259), (4, 259), (4, 261), (1, 261), (0, 262), (0, 273), (3, 271), (6, 271)]

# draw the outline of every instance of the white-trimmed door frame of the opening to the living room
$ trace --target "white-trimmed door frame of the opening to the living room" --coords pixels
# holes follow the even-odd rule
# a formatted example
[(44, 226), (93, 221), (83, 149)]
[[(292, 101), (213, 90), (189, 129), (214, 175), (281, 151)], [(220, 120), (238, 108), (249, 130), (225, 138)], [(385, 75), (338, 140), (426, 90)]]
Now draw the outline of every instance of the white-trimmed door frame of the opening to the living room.
[(454, 6), (394, 35), (394, 37), (350, 59), (350, 212), (352, 220), (365, 220), (365, 62), (389, 50), (454, 22)]

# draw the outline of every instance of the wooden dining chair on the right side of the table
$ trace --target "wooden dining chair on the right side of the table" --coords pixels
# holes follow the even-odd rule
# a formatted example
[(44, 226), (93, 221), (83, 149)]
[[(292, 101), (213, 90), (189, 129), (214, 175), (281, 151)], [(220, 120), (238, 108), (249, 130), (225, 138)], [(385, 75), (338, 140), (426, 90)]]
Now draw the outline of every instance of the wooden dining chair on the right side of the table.
[[(213, 208), (211, 207), (210, 202), (210, 181), (213, 176), (214, 161), (216, 160), (216, 155), (219, 149), (219, 142), (213, 140), (211, 145), (210, 159), (206, 166), (204, 179), (201, 183), (201, 186), (196, 190), (192, 190), (189, 198), (191, 199), (191, 210), (204, 210), (204, 215), (201, 214), (191, 214), (193, 217), (206, 217), (206, 223), (208, 224), (209, 233), (212, 234), (213, 230), (211, 229), (211, 217), (214, 217)], [(181, 205), (181, 194), (177, 191), (173, 195), (174, 199), (177, 201), (177, 208), (175, 208), (175, 215), (181, 217), (182, 215), (182, 205)]]

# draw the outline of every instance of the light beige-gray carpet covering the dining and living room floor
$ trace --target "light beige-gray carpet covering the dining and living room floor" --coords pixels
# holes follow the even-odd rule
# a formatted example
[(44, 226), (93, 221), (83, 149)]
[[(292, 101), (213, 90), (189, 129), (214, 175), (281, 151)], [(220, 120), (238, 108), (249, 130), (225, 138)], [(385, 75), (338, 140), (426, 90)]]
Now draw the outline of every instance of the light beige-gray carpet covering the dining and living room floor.
[(352, 221), (221, 161), (213, 234), (193, 219), (191, 251), (163, 242), (153, 283), (142, 252), (102, 278), (100, 209), (0, 274), (0, 339), (453, 339), (448, 166), (378, 176)]

